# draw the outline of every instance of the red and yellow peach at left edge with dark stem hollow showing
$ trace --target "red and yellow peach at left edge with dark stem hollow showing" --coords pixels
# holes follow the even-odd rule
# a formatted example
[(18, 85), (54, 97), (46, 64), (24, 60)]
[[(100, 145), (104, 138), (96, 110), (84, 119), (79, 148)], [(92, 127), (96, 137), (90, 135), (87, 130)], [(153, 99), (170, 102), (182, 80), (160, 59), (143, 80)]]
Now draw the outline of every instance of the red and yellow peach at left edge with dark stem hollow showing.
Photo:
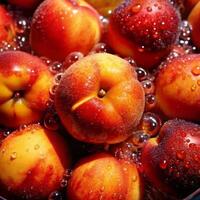
[(53, 75), (37, 57), (20, 51), (0, 54), (0, 124), (16, 128), (39, 121), (47, 108)]

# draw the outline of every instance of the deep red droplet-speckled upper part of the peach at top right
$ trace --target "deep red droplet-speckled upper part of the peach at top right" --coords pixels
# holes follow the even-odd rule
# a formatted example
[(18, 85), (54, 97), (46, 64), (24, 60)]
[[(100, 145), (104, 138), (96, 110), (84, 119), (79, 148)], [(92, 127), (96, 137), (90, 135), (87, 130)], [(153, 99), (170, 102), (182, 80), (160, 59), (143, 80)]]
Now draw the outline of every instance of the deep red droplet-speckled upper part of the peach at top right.
[(166, 0), (128, 0), (115, 9), (111, 21), (131, 41), (160, 50), (177, 40), (180, 13)]

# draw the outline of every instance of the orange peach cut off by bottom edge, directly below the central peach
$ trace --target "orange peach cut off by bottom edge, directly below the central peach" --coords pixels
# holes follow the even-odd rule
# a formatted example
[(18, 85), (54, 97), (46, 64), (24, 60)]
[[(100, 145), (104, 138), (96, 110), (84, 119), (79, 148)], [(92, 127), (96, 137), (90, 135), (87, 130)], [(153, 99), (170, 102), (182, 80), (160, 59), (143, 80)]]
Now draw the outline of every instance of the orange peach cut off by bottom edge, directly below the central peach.
[(139, 200), (142, 184), (135, 164), (98, 153), (82, 159), (75, 167), (67, 196), (70, 200)]

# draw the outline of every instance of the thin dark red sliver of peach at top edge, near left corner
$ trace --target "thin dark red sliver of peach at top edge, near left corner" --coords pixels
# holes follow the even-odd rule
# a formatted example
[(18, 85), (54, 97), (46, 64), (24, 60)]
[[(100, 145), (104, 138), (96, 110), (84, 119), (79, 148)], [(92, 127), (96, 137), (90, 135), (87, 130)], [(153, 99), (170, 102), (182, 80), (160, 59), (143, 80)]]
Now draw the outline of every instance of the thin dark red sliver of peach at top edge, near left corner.
[(34, 9), (41, 1), (43, 0), (8, 0), (10, 4), (24, 9)]

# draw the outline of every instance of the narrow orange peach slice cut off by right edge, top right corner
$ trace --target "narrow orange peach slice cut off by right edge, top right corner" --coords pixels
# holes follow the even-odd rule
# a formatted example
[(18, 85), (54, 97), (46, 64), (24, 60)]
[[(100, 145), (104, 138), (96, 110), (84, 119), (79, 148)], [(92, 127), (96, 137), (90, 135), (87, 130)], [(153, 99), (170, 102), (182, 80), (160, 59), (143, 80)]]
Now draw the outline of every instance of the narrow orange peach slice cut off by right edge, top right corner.
[(190, 22), (192, 26), (192, 42), (195, 44), (196, 47), (200, 47), (200, 40), (199, 40), (199, 34), (200, 34), (200, 2), (198, 2), (192, 11), (190, 12), (188, 16), (188, 21)]

